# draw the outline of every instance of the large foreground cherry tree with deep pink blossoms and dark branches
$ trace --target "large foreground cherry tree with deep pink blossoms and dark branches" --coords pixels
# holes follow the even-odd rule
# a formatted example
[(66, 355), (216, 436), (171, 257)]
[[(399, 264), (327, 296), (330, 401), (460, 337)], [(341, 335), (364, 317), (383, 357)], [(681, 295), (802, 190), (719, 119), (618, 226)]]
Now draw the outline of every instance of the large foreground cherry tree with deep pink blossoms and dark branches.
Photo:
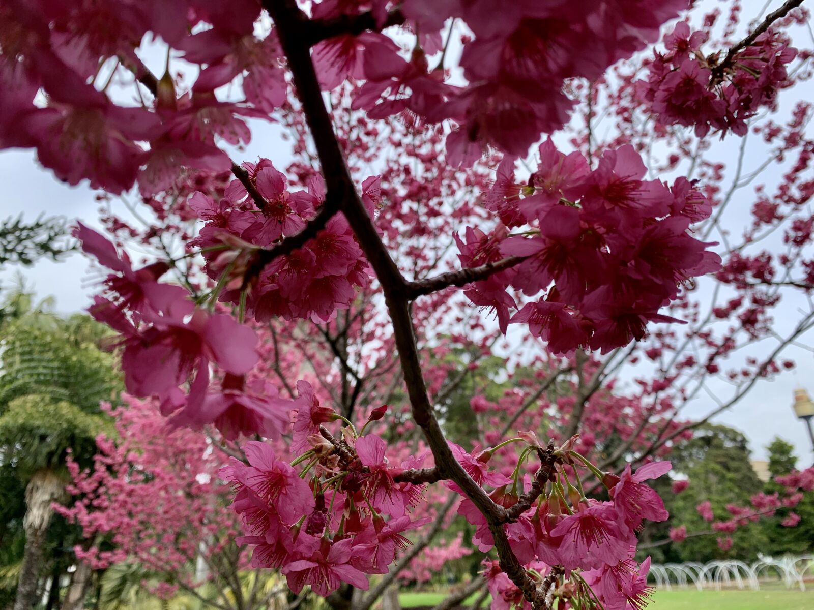
[[(36, 149), (70, 184), (138, 190), (155, 213), (140, 237), (166, 256), (141, 268), (77, 226), (109, 272), (90, 311), (119, 333), (129, 394), (155, 400), (169, 426), (211, 426), (234, 448), (220, 476), (234, 486), (238, 542), (252, 547), (255, 568), (323, 596), (418, 571), (406, 563), (416, 557), (407, 533), (429, 521), (437, 533), (453, 508), (439, 500), (451, 493), (491, 553), (475, 584), (487, 583), (495, 608), (641, 608), (650, 564), (633, 559), (637, 531), (667, 519), (646, 481), (670, 464), (654, 458), (691, 434), (678, 413), (739, 333), (768, 335), (770, 290), (811, 290), (814, 268), (803, 253), (811, 219), (781, 212), (812, 194), (799, 177), (812, 155), (802, 135), (810, 107), (759, 128), (768, 142), (785, 134), (777, 154), (795, 151), (799, 162), (781, 203), (761, 200), (745, 246), (725, 259), (707, 228), (731, 194), (720, 200), (720, 168), (700, 143), (688, 153), (676, 126), (694, 127), (698, 142), (745, 137), (794, 83), (795, 57), (807, 59), (778, 27), (803, 18), (800, 4), (786, 2), (740, 41), (728, 24), (705, 55), (715, 18), (696, 30), (676, 21), (685, 0), (9, 0), (0, 146)], [(661, 33), (663, 48), (637, 74), (637, 54)], [(145, 63), (155, 46), (163, 74)], [(173, 72), (182, 64), (194, 68), (191, 82)], [(593, 133), (601, 99), (617, 120), (608, 142)], [(692, 158), (684, 176), (654, 175), (638, 113), (681, 150), (667, 168)], [(258, 119), (293, 135), (285, 172), (277, 159), (227, 154)], [(572, 146), (558, 144), (571, 130)], [(191, 219), (202, 221), (196, 234), (183, 229)], [(786, 219), (786, 273), (775, 281), (771, 256), (746, 246)], [(139, 236), (105, 220), (114, 235)], [(164, 235), (186, 252), (170, 255)], [(170, 272), (179, 283), (164, 281)], [(710, 316), (751, 299), (737, 327), (704, 325), (690, 295), (710, 273), (737, 292)], [(473, 320), (462, 324), (462, 312)], [(427, 328), (451, 318), (461, 327), (445, 346)], [(689, 332), (676, 330), (683, 323)], [(667, 330), (652, 332), (659, 325)], [(436, 408), (461, 381), (430, 356), (466, 345), (466, 370), (477, 368), (507, 333), (536, 346), (537, 387), (521, 382), (498, 403), (473, 398), (482, 438), (467, 450), (447, 438), (453, 422)], [(780, 370), (781, 347), (730, 373), (729, 406)], [(637, 378), (641, 392), (614, 393), (615, 370), (642, 358), (661, 361)], [(567, 398), (554, 415), (531, 408), (560, 381)], [(405, 408), (389, 409), (396, 388)], [(602, 487), (606, 499), (595, 499)]]

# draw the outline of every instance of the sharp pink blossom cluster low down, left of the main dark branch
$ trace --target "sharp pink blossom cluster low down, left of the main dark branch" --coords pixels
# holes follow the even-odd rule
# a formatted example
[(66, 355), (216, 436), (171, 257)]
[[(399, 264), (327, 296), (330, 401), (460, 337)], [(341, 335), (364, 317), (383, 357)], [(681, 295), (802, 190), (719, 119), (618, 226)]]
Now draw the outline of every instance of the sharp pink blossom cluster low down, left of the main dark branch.
[[(289, 463), (268, 444), (248, 442), (248, 464), (233, 459), (221, 470), (237, 490), (232, 508), (247, 533), (238, 542), (253, 547), (255, 567), (282, 569), (296, 593), (309, 585), (324, 596), (341, 582), (366, 590), (365, 574), (387, 573), (409, 544), (406, 533), (429, 521), (409, 515), (423, 486), (396, 481), (424, 458), (391, 466), (383, 439), (357, 436), (352, 425), (337, 441), (322, 425), (338, 416), (320, 406), (307, 382), (298, 389), (292, 447), (300, 455)], [(385, 409), (374, 410), (368, 422)]]

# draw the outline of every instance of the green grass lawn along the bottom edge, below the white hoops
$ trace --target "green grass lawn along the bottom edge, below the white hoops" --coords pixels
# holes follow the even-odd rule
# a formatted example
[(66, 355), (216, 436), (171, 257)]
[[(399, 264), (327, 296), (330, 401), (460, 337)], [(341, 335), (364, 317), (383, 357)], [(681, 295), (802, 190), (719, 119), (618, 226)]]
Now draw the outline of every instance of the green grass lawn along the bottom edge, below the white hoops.
[[(435, 606), (446, 595), (444, 593), (402, 593), (399, 601), (402, 608)], [(470, 602), (476, 596), (468, 599)], [(656, 591), (648, 606), (652, 610), (812, 610), (814, 590), (729, 590), (701, 591), (672, 590)]]

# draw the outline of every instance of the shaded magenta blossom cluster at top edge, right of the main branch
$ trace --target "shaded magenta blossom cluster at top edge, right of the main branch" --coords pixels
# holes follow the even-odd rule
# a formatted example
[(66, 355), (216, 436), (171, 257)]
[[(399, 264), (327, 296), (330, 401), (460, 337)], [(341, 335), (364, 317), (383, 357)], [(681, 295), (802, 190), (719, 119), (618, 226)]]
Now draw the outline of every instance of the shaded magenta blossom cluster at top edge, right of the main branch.
[[(314, 15), (356, 15), (365, 4), (321, 2)], [(684, 8), (685, 0), (578, 5), (521, 0), (495, 19), (488, 0), (414, 0), (401, 7), (410, 29), (419, 33), (409, 59), (383, 34), (348, 34), (317, 45), (315, 65), (325, 89), (348, 77), (365, 81), (353, 105), (370, 116), (453, 120), (457, 129), (447, 139), (449, 161), (471, 164), (487, 144), (525, 155), (540, 133), (552, 133), (567, 121), (574, 105), (564, 91), (568, 79), (597, 79), (619, 59), (656, 41), (661, 24)], [(374, 14), (386, 19), (379, 11)], [(462, 37), (465, 86), (445, 81), (445, 54), (434, 67), (428, 57), (444, 50), (441, 30), (450, 17), (472, 33)]]

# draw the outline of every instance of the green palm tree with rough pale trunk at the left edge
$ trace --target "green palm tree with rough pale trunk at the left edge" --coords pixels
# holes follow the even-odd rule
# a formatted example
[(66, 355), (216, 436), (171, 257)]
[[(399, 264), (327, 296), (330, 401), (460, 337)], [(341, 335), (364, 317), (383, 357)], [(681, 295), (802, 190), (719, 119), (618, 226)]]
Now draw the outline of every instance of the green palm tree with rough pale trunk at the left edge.
[[(52, 503), (63, 498), (68, 451), (83, 462), (112, 434), (102, 400), (119, 388), (103, 331), (87, 316), (63, 319), (50, 303), (11, 294), (0, 325), (0, 468), (24, 481), (24, 550), (14, 610), (29, 610), (42, 577)], [(11, 312), (11, 315), (10, 315)]]

